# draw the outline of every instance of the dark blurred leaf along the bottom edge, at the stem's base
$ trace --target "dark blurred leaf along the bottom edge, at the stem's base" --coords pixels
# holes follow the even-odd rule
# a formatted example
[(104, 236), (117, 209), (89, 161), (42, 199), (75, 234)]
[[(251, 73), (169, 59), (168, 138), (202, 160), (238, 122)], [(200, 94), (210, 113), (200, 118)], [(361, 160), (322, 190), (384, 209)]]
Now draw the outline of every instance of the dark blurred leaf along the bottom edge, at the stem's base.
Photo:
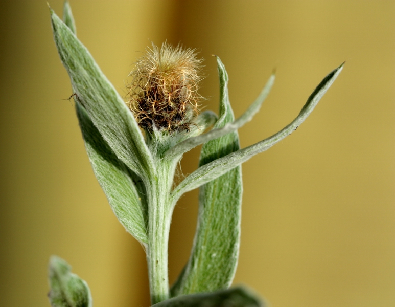
[(244, 288), (177, 296), (152, 307), (263, 307), (264, 304)]

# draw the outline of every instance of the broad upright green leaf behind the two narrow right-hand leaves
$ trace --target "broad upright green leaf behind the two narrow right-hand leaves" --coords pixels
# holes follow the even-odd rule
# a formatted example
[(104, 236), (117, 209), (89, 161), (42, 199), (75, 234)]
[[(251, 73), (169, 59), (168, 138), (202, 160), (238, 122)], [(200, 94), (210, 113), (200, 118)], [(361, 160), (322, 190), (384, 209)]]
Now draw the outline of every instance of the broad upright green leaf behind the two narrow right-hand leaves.
[[(228, 97), (228, 76), (217, 57), (220, 76), (220, 118), (214, 128), (234, 121)], [(203, 145), (200, 165), (240, 149), (236, 132)], [(241, 167), (223, 174), (200, 188), (199, 216), (191, 256), (172, 295), (227, 289), (236, 272), (240, 246), (242, 201)]]

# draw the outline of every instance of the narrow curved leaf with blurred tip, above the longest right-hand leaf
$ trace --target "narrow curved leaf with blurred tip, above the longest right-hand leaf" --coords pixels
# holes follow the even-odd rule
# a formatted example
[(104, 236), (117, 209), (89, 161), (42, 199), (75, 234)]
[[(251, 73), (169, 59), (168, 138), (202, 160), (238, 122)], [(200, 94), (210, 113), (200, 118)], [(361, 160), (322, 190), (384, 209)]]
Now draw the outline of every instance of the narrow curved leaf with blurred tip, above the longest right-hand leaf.
[[(222, 64), (223, 65), (223, 64)], [(196, 146), (206, 143), (208, 141), (214, 140), (216, 138), (222, 137), (228, 133), (234, 132), (241, 128), (245, 123), (249, 122), (252, 117), (259, 111), (262, 103), (265, 101), (267, 95), (269, 94), (273, 84), (275, 75), (274, 73), (270, 76), (269, 80), (266, 82), (263, 90), (255, 99), (255, 101), (248, 107), (248, 109), (240, 116), (237, 120), (227, 122), (226, 125), (218, 126), (217, 128), (211, 130), (210, 132), (193, 138), (188, 138), (187, 140), (178, 143), (176, 146), (170, 148), (165, 155), (168, 159), (183, 155), (183, 153), (195, 148)]]

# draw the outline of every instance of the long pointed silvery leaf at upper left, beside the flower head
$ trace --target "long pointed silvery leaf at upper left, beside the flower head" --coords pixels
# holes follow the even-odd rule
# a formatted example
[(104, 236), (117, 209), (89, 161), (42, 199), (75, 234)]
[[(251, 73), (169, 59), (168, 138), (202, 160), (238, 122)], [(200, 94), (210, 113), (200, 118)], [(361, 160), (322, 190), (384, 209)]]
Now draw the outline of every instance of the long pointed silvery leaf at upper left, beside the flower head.
[(60, 59), (89, 118), (122, 162), (143, 179), (154, 176), (151, 153), (132, 113), (88, 50), (52, 9), (51, 20)]

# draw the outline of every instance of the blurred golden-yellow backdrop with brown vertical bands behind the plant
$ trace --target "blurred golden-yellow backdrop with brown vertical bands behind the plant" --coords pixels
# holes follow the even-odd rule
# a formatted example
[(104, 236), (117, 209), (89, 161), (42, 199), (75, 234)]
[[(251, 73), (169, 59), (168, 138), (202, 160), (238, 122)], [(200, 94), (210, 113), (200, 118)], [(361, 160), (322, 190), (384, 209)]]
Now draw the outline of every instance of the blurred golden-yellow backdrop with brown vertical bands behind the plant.
[[(50, 5), (62, 14), (62, 0)], [(236, 116), (276, 83), (242, 147), (288, 124), (331, 70), (343, 72), (295, 133), (243, 164), (244, 283), (275, 307), (395, 305), (395, 2), (73, 1), (79, 39), (125, 94), (152, 40), (197, 48), (218, 109), (216, 61)], [(0, 2), (0, 305), (49, 306), (50, 255), (96, 307), (149, 305), (145, 255), (90, 168), (45, 1)], [(199, 149), (182, 161), (185, 174)], [(176, 207), (170, 279), (187, 261), (197, 191)]]

